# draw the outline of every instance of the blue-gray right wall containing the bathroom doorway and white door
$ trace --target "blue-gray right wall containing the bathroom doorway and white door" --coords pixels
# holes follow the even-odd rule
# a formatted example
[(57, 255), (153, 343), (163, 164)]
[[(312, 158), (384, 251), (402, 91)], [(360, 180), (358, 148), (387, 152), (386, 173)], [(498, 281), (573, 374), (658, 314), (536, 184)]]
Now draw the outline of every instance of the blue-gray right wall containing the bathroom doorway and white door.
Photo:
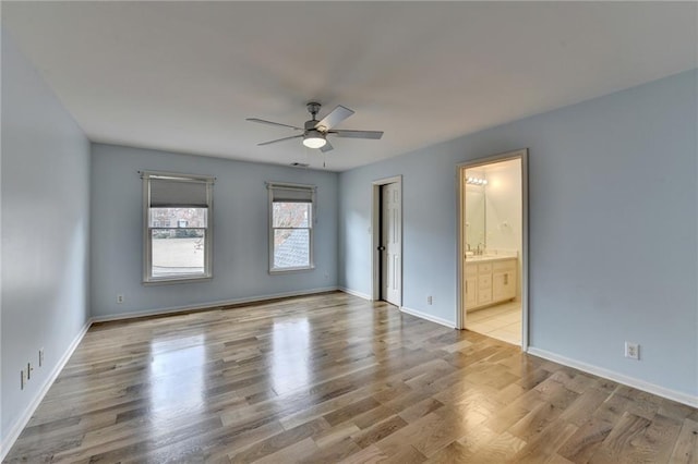
[(694, 70), (341, 173), (339, 284), (371, 293), (371, 182), (401, 174), (402, 304), (454, 322), (456, 164), (529, 148), (530, 345), (696, 399), (697, 88)]

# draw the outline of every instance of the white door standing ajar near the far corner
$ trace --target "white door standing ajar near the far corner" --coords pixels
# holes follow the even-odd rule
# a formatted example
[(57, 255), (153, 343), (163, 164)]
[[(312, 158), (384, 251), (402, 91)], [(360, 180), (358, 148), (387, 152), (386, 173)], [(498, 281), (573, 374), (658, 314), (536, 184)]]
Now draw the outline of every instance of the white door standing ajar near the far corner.
[(381, 298), (396, 306), (401, 294), (401, 200), (397, 183), (381, 186)]

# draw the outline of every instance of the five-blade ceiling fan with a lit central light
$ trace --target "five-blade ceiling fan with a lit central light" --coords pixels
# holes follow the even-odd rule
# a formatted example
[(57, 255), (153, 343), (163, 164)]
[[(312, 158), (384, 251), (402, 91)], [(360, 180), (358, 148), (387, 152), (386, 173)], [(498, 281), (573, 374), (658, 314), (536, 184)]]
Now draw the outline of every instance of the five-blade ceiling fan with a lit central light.
[(263, 142), (257, 146), (276, 144), (277, 142), (290, 141), (291, 138), (302, 138), (303, 145), (309, 148), (320, 148), (321, 151), (329, 151), (333, 146), (327, 141), (328, 135), (336, 135), (337, 137), (349, 138), (371, 138), (378, 139), (383, 136), (383, 131), (348, 131), (348, 130), (335, 130), (335, 125), (353, 114), (353, 111), (349, 108), (338, 105), (337, 108), (332, 110), (322, 120), (317, 121), (315, 115), (320, 111), (321, 105), (314, 101), (308, 103), (308, 111), (312, 118), (310, 121), (305, 121), (303, 127), (298, 127), (289, 124), (281, 124), (279, 122), (266, 121), (258, 118), (248, 118), (248, 121), (258, 122), (261, 124), (278, 125), (281, 127), (289, 127), (294, 131), (303, 131), (302, 134), (291, 135), (290, 137), (277, 138), (276, 141)]

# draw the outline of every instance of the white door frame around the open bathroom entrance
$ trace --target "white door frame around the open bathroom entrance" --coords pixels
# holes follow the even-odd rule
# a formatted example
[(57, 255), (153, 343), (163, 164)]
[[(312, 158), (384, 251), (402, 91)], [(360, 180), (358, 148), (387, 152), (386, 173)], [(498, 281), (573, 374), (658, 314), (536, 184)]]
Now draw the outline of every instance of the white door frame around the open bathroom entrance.
[(470, 161), (465, 161), (456, 164), (456, 176), (457, 176), (457, 209), (456, 209), (456, 218), (458, 229), (457, 241), (456, 244), (458, 249), (458, 259), (457, 259), (457, 284), (456, 284), (456, 328), (465, 329), (466, 328), (466, 317), (465, 317), (465, 298), (462, 297), (462, 279), (465, 276), (465, 256), (466, 251), (464, 249), (464, 237), (466, 235), (465, 231), (465, 205), (466, 205), (466, 184), (464, 183), (464, 172), (466, 169), (477, 168), (479, 166), (492, 164), (494, 162), (500, 161), (508, 161), (513, 159), (521, 160), (521, 351), (527, 352), (529, 345), (529, 330), (528, 330), (528, 321), (529, 321), (529, 276), (528, 276), (528, 148), (522, 148), (519, 150), (507, 151), (498, 155), (492, 155), (484, 158), (478, 158)]

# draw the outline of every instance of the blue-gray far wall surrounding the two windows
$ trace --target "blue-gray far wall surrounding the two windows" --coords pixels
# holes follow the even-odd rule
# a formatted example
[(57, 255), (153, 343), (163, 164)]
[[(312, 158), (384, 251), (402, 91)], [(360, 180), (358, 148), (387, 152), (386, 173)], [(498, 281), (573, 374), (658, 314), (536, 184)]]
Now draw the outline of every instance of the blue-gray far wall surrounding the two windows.
[[(117, 315), (334, 289), (337, 174), (219, 158), (93, 144), (92, 315)], [(143, 277), (143, 190), (137, 171), (215, 175), (214, 278), (148, 285)], [(315, 269), (268, 273), (265, 182), (317, 186)], [(124, 303), (117, 304), (117, 294)]]

